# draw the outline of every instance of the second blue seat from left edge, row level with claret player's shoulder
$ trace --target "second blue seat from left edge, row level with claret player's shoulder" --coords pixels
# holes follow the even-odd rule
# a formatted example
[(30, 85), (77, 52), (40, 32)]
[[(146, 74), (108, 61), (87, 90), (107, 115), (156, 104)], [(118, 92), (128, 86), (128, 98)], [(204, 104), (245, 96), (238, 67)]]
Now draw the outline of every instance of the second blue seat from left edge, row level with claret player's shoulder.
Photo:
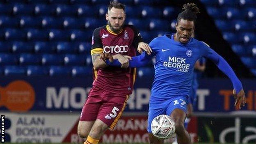
[(27, 30), (27, 40), (34, 41), (46, 41), (48, 40), (49, 34), (46, 30), (29, 29)]

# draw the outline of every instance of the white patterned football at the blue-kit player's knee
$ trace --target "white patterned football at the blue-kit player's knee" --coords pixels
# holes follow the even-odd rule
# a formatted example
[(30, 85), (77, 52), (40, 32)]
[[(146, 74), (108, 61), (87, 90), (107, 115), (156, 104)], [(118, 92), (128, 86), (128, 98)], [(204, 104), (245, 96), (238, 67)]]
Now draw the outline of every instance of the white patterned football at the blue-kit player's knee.
[(159, 115), (151, 123), (151, 131), (155, 137), (168, 139), (175, 134), (175, 123), (168, 115)]

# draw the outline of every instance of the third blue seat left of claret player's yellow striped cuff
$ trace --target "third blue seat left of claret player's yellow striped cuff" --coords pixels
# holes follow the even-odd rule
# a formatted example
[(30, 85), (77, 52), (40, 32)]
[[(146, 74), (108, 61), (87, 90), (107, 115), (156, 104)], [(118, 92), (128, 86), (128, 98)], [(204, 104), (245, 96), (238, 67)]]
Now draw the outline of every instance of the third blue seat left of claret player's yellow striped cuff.
[(54, 53), (55, 48), (56, 48), (55, 43), (35, 42), (34, 44), (35, 53)]

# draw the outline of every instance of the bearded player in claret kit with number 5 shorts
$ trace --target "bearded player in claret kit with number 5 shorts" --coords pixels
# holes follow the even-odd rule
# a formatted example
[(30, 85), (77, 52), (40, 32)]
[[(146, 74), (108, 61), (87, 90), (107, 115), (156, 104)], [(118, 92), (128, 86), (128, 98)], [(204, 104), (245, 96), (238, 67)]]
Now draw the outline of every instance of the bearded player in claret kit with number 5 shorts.
[(106, 14), (107, 25), (96, 28), (93, 33), (91, 57), (95, 79), (78, 123), (78, 135), (87, 138), (84, 144), (98, 144), (105, 130), (114, 128), (133, 91), (136, 75), (135, 68), (108, 66), (100, 59), (100, 54), (113, 55), (114, 59), (127, 67), (128, 58), (136, 55), (137, 48), (151, 53), (139, 31), (133, 25), (124, 24), (125, 18), (125, 6), (110, 2)]

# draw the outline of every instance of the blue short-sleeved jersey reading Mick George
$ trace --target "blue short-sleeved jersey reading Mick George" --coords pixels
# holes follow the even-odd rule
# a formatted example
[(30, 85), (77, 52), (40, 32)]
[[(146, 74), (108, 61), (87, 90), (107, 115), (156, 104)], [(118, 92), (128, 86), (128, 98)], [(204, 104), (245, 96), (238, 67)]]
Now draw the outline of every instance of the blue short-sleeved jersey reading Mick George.
[(149, 43), (155, 57), (151, 99), (189, 96), (195, 62), (214, 52), (202, 41), (190, 38), (188, 43), (183, 44), (175, 41), (173, 36), (165, 34)]

